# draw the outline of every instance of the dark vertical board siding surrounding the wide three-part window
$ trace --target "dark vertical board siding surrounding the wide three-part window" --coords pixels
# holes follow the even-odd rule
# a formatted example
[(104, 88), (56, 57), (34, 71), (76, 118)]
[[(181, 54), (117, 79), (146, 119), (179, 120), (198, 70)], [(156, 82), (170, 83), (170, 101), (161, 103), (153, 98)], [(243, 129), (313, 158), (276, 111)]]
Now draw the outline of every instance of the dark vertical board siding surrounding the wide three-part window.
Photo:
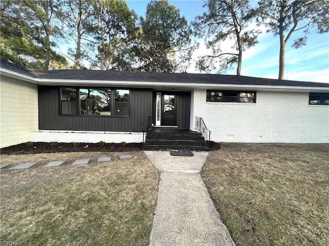
[(38, 86), (40, 130), (141, 132), (152, 115), (151, 89), (131, 89), (130, 117), (60, 115), (59, 90)]

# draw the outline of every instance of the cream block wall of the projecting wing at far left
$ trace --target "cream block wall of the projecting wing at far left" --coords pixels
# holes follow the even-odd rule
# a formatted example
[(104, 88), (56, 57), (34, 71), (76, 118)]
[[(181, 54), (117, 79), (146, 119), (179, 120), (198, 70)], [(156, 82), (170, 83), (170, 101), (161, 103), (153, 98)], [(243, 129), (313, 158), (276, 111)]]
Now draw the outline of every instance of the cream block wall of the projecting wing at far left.
[(29, 141), (38, 131), (38, 87), (21, 80), (0, 78), (0, 148)]

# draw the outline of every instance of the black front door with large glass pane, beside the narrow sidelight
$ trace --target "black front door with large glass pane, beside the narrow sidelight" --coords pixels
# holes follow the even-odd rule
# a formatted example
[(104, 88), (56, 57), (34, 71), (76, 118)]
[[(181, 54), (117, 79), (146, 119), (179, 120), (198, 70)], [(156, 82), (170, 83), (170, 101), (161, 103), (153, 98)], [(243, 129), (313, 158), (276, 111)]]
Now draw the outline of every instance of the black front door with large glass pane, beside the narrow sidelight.
[(177, 126), (175, 95), (162, 93), (161, 111), (161, 126)]

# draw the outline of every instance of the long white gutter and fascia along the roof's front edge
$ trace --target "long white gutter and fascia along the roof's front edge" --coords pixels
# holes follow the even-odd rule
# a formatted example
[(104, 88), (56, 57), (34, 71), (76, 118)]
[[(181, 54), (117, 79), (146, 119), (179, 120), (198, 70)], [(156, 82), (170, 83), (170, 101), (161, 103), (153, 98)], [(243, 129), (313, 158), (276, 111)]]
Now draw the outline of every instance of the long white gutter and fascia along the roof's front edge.
[(42, 79), (33, 78), (24, 74), (16, 73), (7, 69), (1, 69), (6, 76), (24, 79), (29, 83), (46, 86), (124, 86), (124, 87), (170, 87), (170, 88), (189, 88), (189, 89), (244, 89), (255, 91), (296, 91), (296, 92), (329, 92), (328, 87), (302, 87), (302, 86), (264, 86), (264, 85), (234, 85), (234, 84), (199, 84), (199, 83), (163, 83), (157, 81), (117, 81), (117, 80), (76, 80), (76, 79)]

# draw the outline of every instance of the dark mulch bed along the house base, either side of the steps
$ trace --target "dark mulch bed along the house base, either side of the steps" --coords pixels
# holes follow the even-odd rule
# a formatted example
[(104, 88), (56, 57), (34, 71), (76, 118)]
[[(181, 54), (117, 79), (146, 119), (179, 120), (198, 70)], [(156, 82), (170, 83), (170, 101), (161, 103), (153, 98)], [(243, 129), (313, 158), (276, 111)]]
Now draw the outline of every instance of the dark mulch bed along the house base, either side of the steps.
[[(219, 150), (220, 143), (208, 141), (210, 151)], [(90, 142), (80, 142), (78, 147), (75, 147), (72, 142), (59, 142), (58, 146), (51, 146), (50, 142), (33, 142), (31, 147), (27, 143), (13, 145), (0, 149), (0, 154), (4, 155), (25, 155), (25, 154), (41, 154), (41, 153), (58, 153), (58, 152), (133, 152), (141, 151), (143, 144), (139, 143), (105, 143), (100, 146), (99, 142), (93, 144)]]

